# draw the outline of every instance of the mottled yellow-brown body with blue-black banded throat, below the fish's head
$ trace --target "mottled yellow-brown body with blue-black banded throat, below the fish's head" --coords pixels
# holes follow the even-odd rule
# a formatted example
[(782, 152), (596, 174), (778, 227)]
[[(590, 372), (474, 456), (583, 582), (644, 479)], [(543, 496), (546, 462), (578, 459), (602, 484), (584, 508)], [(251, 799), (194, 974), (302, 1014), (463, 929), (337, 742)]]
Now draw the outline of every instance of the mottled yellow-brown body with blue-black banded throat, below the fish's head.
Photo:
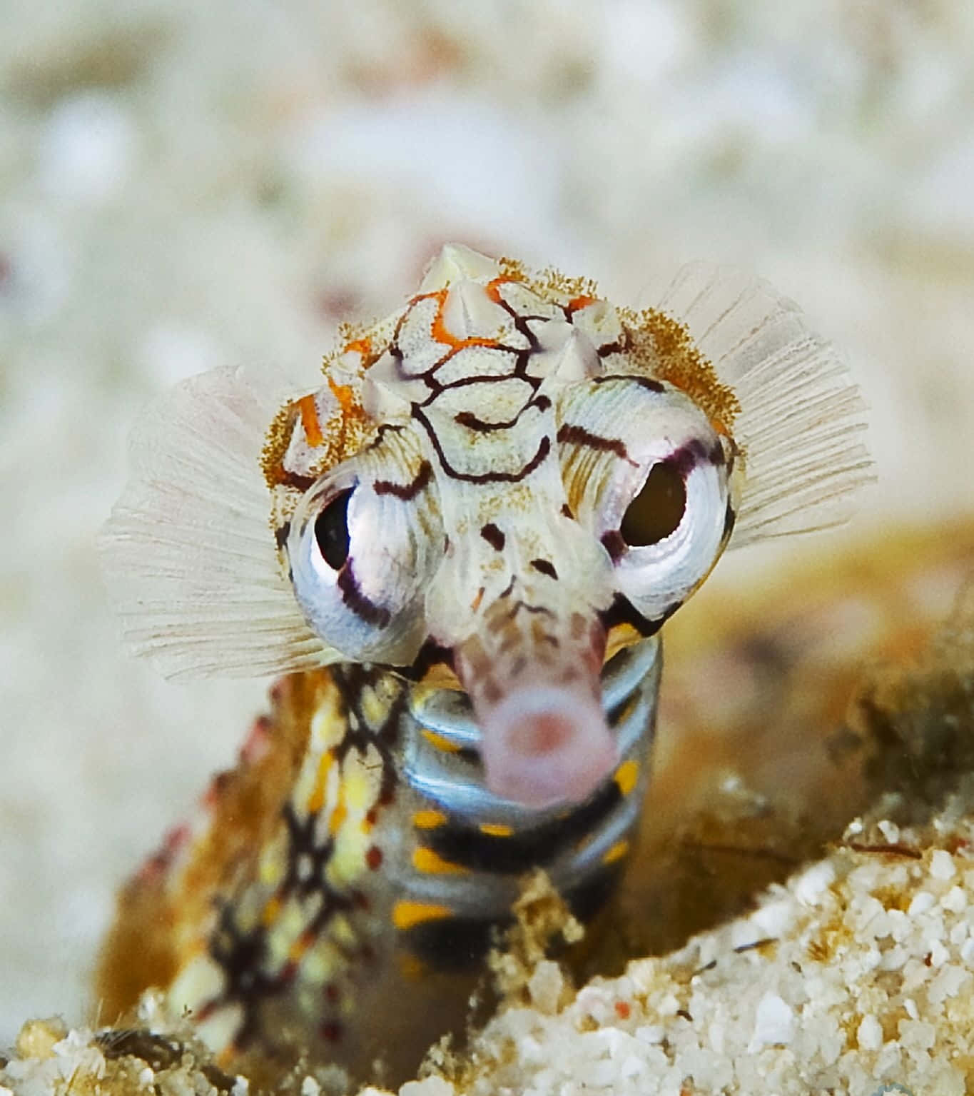
[[(610, 895), (645, 794), (658, 652), (651, 638), (606, 667), (621, 760), (570, 810), (486, 790), (461, 693), (357, 665), (283, 680), (238, 769), (215, 779), (195, 824), (174, 831), (123, 899), (122, 924), (140, 909), (153, 922), (170, 1008), (190, 1009), (225, 1061), (257, 1053), (282, 1069), (303, 1053), (358, 1073), (375, 1058), (414, 1068), (465, 1015), (492, 931), (531, 869), (583, 920)], [(293, 758), (284, 773), (282, 756)], [(119, 969), (140, 987), (159, 979), (138, 935), (134, 948), (117, 929), (110, 939), (108, 1006), (130, 1003), (118, 1000)], [(429, 989), (437, 1000), (390, 1039), (390, 1002)]]

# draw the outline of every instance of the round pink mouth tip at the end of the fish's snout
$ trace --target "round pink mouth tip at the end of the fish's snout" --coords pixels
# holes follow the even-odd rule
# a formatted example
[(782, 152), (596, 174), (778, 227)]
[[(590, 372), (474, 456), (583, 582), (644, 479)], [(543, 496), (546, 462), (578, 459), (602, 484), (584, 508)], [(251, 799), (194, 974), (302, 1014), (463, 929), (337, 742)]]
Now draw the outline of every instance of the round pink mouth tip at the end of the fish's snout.
[(618, 750), (588, 689), (524, 684), (478, 711), (486, 784), (525, 807), (581, 802), (612, 772)]

